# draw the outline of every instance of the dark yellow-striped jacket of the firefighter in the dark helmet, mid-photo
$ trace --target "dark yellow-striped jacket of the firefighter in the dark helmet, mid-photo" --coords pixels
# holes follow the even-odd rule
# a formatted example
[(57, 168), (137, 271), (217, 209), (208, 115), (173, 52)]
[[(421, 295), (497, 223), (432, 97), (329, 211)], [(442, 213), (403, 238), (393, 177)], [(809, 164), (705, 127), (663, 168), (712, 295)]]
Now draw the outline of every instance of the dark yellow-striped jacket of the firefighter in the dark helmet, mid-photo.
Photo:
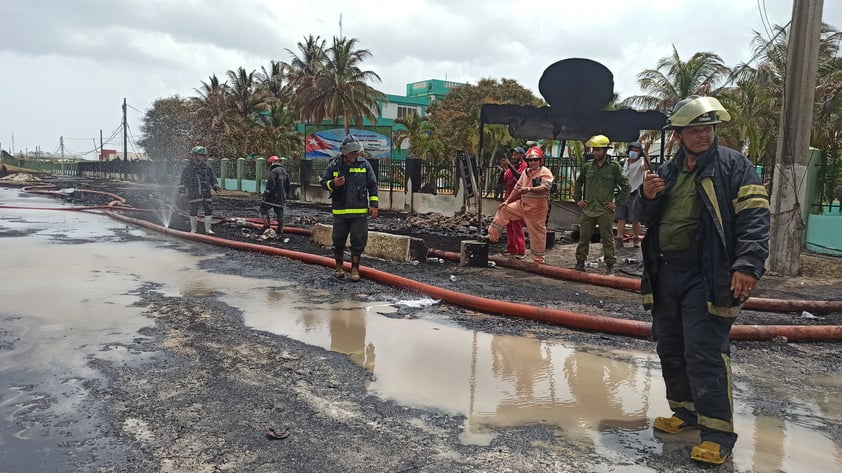
[[(336, 187), (334, 179), (339, 176), (345, 176), (345, 184)], [(377, 176), (362, 157), (350, 165), (343, 156), (334, 158), (322, 174), (321, 185), (330, 192), (334, 216), (364, 216), (369, 207), (377, 207)]]

